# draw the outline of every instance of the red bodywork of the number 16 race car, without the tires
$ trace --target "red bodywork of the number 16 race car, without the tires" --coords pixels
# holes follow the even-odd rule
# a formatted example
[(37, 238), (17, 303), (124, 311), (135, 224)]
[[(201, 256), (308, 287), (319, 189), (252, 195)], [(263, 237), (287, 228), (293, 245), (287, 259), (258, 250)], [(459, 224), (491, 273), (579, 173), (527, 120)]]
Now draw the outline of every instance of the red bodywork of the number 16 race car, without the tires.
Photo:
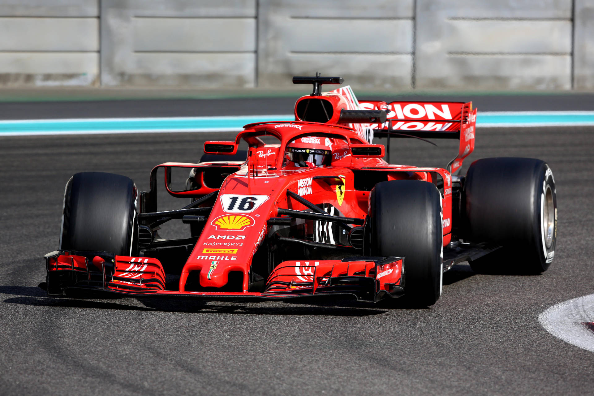
[[(359, 296), (359, 299), (378, 300), (384, 294), (394, 295), (395, 288), (402, 286), (406, 265), (403, 258), (378, 262), (364, 258), (361, 261), (354, 261), (356, 258), (341, 261), (295, 257), (296, 261), (283, 261), (274, 267), (263, 290), (250, 290), (254, 255), (263, 248), (263, 241), (272, 237), (274, 231), (268, 220), (283, 217), (278, 213), (279, 209), (308, 210), (306, 205), (291, 197), (287, 191), (313, 204), (329, 204), (335, 208), (333, 214), (361, 219), (360, 225), (368, 213), (369, 191), (356, 188), (356, 183), (357, 178), (364, 174), (361, 172), (368, 170), (381, 172), (385, 180), (413, 179), (440, 184), (443, 245), (450, 243), (451, 173), (462, 166), (463, 159), (474, 148), (476, 109), (472, 110), (471, 103), (359, 102), (359, 109), (386, 110), (388, 120), (381, 124), (359, 124), (352, 128), (352, 125), (337, 123), (340, 110), (352, 109), (354, 106), (348, 95), (350, 90), (341, 93), (340, 89), (322, 96), (299, 99), (295, 106), (296, 121), (252, 123), (244, 127), (234, 142), (207, 142), (233, 145), (229, 153), (234, 154), (239, 142), (247, 141), (250, 147), (245, 163), (163, 163), (153, 169), (155, 175), (157, 169), (165, 168), (166, 191), (175, 197), (200, 198), (218, 191), (200, 237), (182, 268), (176, 289), (166, 289), (166, 271), (159, 260), (143, 256), (115, 256), (109, 260), (105, 255), (91, 257), (88, 254), (83, 256), (77, 252), (60, 251), (47, 256), (48, 272), (70, 271), (83, 283), (87, 278), (86, 284), (90, 285), (94, 271), (100, 271), (103, 278), (97, 287), (109, 292), (135, 295), (286, 298), (350, 293), (350, 286), (355, 284), (371, 288), (368, 298)], [(328, 100), (333, 109), (330, 120), (326, 123), (301, 121), (299, 103), (307, 99)], [(353, 148), (371, 147), (366, 140), (369, 138), (366, 132), (369, 129), (405, 134), (411, 131), (456, 134), (460, 138), (460, 149), (450, 170), (388, 164), (381, 157), (362, 156), (360, 152), (353, 152)], [(281, 153), (285, 152), (286, 144), (297, 138), (311, 136), (335, 141), (330, 166), (284, 166)], [(280, 144), (266, 144), (264, 141), (267, 137), (276, 138)], [(383, 156), (383, 147), (380, 156)], [(198, 188), (172, 191), (168, 175), (173, 167), (192, 169)], [(220, 188), (215, 188), (204, 182), (204, 172), (209, 172), (213, 167), (222, 173), (225, 173), (226, 168), (235, 172), (229, 171), (231, 174), (225, 177)], [(311, 231), (307, 230), (307, 224), (304, 228), (305, 232)], [(330, 243), (340, 245), (340, 240), (336, 237)], [(194, 290), (187, 290), (188, 277), (192, 274), (197, 275), (194, 276)], [(234, 274), (242, 277), (241, 290), (217, 291), (225, 287)], [(200, 290), (195, 290), (196, 281), (199, 282)]]

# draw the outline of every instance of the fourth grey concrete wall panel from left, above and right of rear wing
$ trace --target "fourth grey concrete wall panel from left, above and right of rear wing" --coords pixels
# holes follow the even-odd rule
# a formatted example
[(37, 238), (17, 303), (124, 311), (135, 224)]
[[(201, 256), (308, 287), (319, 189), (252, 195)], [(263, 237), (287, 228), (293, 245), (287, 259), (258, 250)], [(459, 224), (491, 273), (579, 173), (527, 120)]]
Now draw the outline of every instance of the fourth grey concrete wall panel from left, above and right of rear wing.
[(416, 87), (570, 89), (571, 4), (417, 1)]

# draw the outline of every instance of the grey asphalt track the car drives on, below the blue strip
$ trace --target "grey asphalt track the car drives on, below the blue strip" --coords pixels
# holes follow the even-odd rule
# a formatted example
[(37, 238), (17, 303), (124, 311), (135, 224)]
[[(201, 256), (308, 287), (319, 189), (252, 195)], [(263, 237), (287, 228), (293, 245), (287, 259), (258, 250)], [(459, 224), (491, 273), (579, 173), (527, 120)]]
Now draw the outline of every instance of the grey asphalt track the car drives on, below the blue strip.
[[(58, 245), (62, 194), (73, 173), (121, 173), (146, 189), (155, 164), (195, 161), (205, 140), (228, 137), (0, 140), (0, 394), (592, 394), (594, 353), (538, 322), (550, 306), (594, 293), (591, 127), (478, 129), (466, 166), (493, 156), (551, 166), (555, 260), (539, 276), (477, 275), (456, 265), (429, 309), (77, 300), (37, 288), (45, 279), (42, 256)], [(393, 140), (391, 159), (444, 166), (451, 144)]]

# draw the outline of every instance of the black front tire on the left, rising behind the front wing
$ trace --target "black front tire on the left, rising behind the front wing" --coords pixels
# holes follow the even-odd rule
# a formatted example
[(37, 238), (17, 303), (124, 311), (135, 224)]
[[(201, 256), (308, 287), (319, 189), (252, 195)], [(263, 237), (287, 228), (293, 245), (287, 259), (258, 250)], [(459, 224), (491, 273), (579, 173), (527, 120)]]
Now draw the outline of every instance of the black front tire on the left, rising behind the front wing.
[(137, 191), (132, 179), (77, 173), (66, 184), (59, 249), (132, 255)]

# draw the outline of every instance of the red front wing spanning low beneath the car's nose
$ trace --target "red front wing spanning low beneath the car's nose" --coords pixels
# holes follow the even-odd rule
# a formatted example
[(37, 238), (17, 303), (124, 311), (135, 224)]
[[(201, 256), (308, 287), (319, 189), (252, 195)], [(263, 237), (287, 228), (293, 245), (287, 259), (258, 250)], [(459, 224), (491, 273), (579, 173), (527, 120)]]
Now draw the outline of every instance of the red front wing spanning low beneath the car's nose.
[(355, 296), (377, 302), (404, 294), (404, 258), (352, 257), (285, 261), (272, 271), (263, 292), (178, 292), (166, 290), (163, 265), (155, 258), (109, 252), (55, 251), (45, 255), (49, 295), (83, 289), (130, 296), (202, 297), (211, 300)]

